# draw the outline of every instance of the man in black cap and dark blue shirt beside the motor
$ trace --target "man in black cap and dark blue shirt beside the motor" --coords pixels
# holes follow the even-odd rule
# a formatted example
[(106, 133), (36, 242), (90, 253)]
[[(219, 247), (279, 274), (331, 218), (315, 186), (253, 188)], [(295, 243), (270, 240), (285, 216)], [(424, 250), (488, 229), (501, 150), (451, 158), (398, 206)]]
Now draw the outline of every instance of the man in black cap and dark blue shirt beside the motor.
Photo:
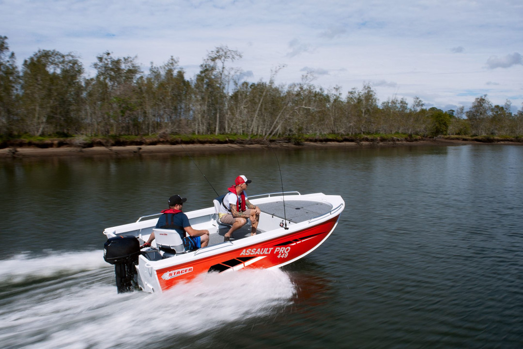
[[(182, 198), (179, 195), (173, 195), (167, 201), (169, 208), (163, 210), (163, 215), (158, 218), (155, 228), (160, 229), (174, 229), (180, 238), (184, 239), (185, 233), (189, 235), (189, 239), (194, 241), (196, 247), (205, 247), (209, 243), (209, 231), (208, 230), (196, 230), (191, 227), (189, 218), (181, 210), (184, 207), (184, 202), (187, 198)], [(149, 240), (142, 245), (142, 247), (151, 246), (151, 242), (154, 240), (154, 233), (151, 233)]]

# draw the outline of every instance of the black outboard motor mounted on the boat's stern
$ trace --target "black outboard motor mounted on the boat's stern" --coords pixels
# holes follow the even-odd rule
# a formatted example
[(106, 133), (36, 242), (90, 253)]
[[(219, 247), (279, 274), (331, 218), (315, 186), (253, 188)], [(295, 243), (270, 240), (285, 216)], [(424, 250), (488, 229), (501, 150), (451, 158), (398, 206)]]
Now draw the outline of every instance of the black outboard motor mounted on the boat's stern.
[(140, 242), (133, 235), (109, 238), (104, 244), (104, 260), (115, 265), (118, 293), (132, 292), (136, 283), (135, 275), (140, 254)]

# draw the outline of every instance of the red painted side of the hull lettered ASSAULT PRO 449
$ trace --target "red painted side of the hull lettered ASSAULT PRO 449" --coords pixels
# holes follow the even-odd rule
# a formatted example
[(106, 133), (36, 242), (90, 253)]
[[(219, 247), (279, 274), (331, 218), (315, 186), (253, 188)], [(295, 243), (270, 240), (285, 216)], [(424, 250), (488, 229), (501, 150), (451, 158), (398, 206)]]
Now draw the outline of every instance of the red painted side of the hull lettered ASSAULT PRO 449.
[(184, 264), (158, 269), (162, 290), (203, 273), (227, 272), (242, 268), (279, 267), (297, 260), (319, 246), (336, 227), (338, 216), (316, 226), (279, 236), (246, 248), (238, 248)]

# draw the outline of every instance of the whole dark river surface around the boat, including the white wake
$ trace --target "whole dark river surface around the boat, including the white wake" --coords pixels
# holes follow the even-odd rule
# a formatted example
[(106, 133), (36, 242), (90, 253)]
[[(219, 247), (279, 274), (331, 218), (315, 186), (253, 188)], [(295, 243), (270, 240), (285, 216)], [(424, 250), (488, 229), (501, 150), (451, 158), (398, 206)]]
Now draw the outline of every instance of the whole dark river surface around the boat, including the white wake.
[[(0, 166), (0, 347), (523, 347), (523, 147)], [(319, 249), (282, 269), (117, 294), (104, 228), (158, 212), (173, 194), (189, 198), (186, 211), (211, 206), (211, 185), (221, 194), (238, 174), (251, 195), (283, 183), (342, 195), (346, 208)]]

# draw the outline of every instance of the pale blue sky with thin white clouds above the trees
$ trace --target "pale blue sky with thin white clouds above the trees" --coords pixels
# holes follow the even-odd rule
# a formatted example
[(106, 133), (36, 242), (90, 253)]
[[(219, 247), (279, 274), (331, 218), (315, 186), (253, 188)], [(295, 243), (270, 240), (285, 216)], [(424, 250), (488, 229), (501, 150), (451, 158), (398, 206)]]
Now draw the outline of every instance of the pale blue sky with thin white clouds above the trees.
[(312, 73), (344, 95), (371, 84), (380, 103), (470, 107), (487, 95), (523, 108), (521, 0), (0, 0), (0, 35), (17, 63), (39, 49), (136, 57), (147, 72), (173, 56), (192, 78), (219, 46), (246, 81), (299, 83)]

